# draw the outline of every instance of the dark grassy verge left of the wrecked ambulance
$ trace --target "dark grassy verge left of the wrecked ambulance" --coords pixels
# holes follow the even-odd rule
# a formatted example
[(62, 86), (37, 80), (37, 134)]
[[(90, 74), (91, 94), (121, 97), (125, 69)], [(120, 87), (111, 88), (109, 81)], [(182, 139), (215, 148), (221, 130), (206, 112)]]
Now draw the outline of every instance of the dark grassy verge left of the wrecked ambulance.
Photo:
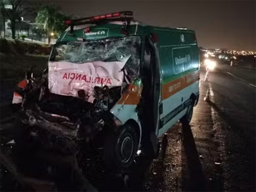
[(39, 76), (47, 66), (49, 56), (0, 54), (0, 111), (1, 119), (12, 114), (12, 97), (15, 86), (25, 79), (33, 66), (33, 76)]

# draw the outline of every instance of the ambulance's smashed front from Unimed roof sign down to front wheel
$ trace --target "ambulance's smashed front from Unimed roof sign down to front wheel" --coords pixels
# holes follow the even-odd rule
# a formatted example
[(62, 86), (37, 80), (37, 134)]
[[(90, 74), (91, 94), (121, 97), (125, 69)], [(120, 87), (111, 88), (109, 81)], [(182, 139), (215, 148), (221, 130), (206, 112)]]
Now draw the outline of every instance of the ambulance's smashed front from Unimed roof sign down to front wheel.
[(83, 40), (65, 32), (52, 48), (43, 75), (28, 73), (19, 84), (13, 97), (13, 103), (21, 102), (18, 145), (76, 154), (81, 143), (101, 138), (106, 164), (132, 164), (141, 140), (137, 109), (143, 88), (142, 40), (136, 32), (111, 35), (111, 28), (120, 31), (123, 26), (96, 25), (87, 38), (80, 28)]

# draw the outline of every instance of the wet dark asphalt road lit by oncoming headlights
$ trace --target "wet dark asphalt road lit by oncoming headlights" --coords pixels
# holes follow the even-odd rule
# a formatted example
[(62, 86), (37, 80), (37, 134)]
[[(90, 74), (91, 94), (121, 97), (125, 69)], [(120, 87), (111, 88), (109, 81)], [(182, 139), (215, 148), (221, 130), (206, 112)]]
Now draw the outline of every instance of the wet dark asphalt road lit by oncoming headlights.
[(210, 73), (190, 126), (176, 123), (157, 159), (141, 157), (131, 172), (88, 179), (101, 191), (255, 191), (255, 99), (252, 86)]

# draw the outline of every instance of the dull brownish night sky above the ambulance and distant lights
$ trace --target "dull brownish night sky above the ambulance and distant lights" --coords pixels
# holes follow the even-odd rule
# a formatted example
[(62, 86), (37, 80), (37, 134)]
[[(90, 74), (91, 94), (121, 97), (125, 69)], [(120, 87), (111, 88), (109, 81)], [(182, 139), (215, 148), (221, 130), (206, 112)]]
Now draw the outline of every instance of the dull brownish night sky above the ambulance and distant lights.
[(136, 20), (149, 25), (195, 30), (199, 46), (205, 48), (256, 50), (255, 0), (46, 0), (40, 3), (57, 4), (63, 13), (77, 17), (131, 10)]

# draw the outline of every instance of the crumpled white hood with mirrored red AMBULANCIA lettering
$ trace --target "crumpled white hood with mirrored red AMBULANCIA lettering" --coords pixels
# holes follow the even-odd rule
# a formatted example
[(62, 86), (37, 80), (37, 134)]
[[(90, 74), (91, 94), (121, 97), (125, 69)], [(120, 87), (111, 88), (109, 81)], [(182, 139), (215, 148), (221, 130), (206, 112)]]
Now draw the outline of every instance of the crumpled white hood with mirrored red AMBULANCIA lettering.
[(49, 91), (78, 97), (77, 91), (84, 90), (87, 101), (93, 102), (94, 86), (122, 86), (124, 79), (122, 68), (129, 57), (124, 58), (122, 62), (93, 61), (77, 64), (68, 61), (49, 61)]

